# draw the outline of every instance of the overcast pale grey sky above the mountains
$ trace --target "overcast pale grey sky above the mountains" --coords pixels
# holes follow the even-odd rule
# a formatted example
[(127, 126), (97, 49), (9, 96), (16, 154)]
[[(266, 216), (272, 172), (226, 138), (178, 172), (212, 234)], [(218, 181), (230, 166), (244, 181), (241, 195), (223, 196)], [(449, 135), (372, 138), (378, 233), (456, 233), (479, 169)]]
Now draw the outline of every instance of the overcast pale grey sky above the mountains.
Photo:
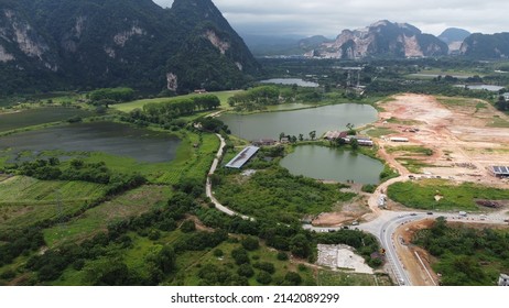
[[(438, 35), (455, 26), (486, 34), (509, 32), (507, 0), (213, 0), (241, 34), (322, 34), (335, 37), (378, 20), (408, 22)], [(154, 0), (171, 7), (173, 0)]]

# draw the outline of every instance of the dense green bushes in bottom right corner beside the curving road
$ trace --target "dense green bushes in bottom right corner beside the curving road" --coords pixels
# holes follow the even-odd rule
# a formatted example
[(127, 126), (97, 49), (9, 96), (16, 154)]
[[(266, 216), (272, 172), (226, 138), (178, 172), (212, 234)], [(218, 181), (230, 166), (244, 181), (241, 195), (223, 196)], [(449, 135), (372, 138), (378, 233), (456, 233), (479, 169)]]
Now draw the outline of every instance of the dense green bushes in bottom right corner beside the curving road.
[(413, 243), (438, 261), (433, 270), (446, 286), (495, 286), (500, 273), (509, 271), (507, 230), (451, 227), (438, 218), (431, 229), (419, 231)]

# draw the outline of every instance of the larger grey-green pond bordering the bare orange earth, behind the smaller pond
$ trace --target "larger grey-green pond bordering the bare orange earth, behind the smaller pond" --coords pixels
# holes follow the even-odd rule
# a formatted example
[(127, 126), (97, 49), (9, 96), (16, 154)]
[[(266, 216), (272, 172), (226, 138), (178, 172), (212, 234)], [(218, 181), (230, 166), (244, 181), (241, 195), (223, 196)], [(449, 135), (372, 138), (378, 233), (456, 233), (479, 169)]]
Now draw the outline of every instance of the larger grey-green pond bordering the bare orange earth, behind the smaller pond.
[(248, 116), (223, 114), (219, 117), (231, 133), (252, 141), (263, 138), (279, 139), (281, 132), (308, 138), (311, 131), (321, 136), (329, 130), (346, 130), (346, 124), (361, 127), (377, 120), (377, 110), (369, 105), (342, 103), (317, 108), (264, 112)]

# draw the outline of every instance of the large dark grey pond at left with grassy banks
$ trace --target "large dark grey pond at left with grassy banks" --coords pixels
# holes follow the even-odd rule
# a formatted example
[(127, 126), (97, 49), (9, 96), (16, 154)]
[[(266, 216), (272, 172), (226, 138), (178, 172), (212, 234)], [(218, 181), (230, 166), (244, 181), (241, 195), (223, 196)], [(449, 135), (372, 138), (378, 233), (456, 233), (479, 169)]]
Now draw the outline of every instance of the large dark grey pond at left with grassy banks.
[(112, 122), (78, 123), (29, 131), (0, 138), (0, 152), (64, 151), (104, 152), (144, 163), (175, 158), (181, 141), (163, 132), (137, 129)]

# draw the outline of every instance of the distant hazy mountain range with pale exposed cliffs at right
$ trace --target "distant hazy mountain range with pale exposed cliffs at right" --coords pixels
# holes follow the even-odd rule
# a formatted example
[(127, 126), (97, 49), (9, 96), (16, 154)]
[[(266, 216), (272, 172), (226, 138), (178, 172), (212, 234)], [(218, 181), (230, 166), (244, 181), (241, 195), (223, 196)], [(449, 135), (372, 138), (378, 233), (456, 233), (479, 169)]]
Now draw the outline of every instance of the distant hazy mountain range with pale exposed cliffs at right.
[[(278, 42), (277, 37), (267, 41)], [(465, 56), (475, 59), (509, 57), (509, 33), (470, 34), (457, 28), (445, 30), (438, 37), (422, 33), (408, 23), (387, 20), (376, 22), (365, 29), (344, 30), (335, 40), (324, 36), (293, 40), (288, 44), (266, 46), (247, 40), (257, 56), (275, 54), (302, 55), (318, 58), (408, 58), (430, 56)]]

